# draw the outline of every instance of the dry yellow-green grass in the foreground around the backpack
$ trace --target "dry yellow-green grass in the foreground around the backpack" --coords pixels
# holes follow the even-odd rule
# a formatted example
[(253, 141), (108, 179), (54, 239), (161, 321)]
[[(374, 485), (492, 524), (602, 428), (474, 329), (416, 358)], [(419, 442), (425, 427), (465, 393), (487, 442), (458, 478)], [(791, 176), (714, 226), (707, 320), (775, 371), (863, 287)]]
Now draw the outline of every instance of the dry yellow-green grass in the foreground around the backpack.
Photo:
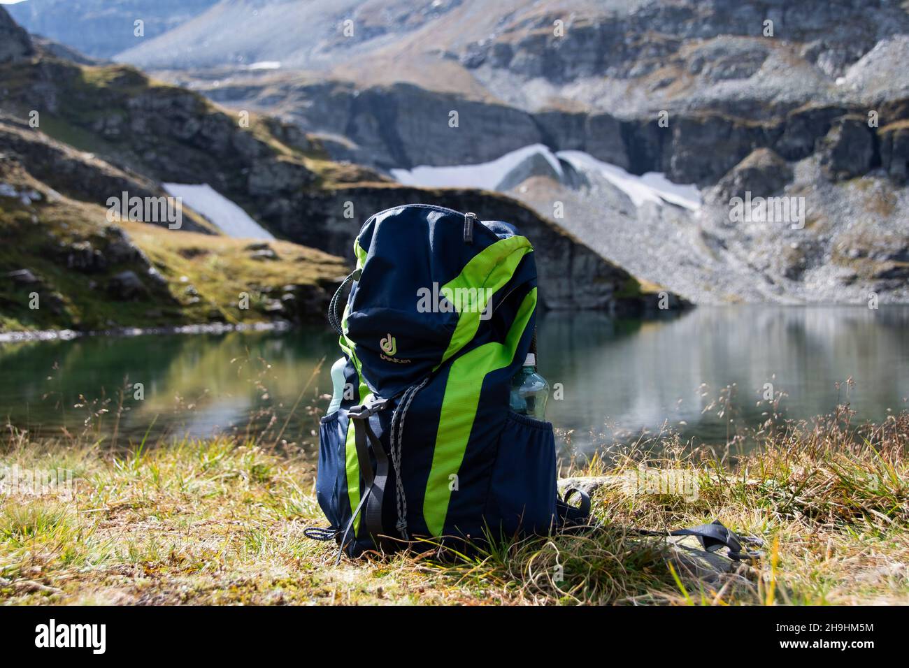
[[(740, 457), (663, 436), (660, 459), (634, 448), (572, 473), (683, 470), (697, 494), (607, 484), (594, 496), (604, 528), (469, 559), (443, 562), (427, 546), (337, 566), (334, 543), (303, 534), (324, 523), (310, 444), (214, 439), (115, 454), (7, 435), (0, 470), (70, 469), (75, 494), (4, 499), (4, 603), (909, 603), (909, 414), (861, 429), (844, 411), (779, 425)], [(663, 539), (628, 532), (714, 518), (762, 535), (764, 560), (707, 583), (671, 567)]]

